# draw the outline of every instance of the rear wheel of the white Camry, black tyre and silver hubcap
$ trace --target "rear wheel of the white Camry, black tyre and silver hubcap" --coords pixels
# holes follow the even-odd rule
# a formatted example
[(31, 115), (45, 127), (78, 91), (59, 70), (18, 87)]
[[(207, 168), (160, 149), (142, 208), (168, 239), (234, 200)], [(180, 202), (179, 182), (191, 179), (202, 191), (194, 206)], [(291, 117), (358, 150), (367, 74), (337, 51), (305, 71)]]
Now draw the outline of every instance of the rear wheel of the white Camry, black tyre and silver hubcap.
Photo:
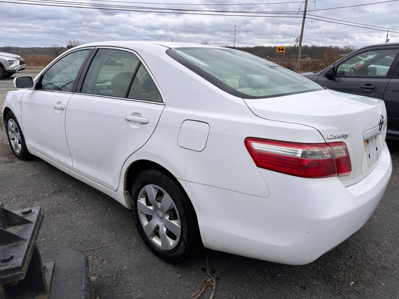
[(170, 175), (142, 171), (133, 183), (131, 204), (141, 238), (162, 260), (181, 262), (202, 248), (194, 209)]

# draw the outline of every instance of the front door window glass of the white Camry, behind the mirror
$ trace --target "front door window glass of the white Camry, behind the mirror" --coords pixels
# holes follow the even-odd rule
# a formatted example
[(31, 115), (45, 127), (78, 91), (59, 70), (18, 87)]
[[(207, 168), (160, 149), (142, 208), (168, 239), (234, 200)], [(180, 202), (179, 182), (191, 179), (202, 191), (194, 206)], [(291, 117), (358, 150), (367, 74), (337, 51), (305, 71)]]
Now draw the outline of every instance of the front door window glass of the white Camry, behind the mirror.
[(77, 73), (91, 50), (80, 50), (68, 54), (54, 63), (41, 79), (41, 89), (72, 91)]

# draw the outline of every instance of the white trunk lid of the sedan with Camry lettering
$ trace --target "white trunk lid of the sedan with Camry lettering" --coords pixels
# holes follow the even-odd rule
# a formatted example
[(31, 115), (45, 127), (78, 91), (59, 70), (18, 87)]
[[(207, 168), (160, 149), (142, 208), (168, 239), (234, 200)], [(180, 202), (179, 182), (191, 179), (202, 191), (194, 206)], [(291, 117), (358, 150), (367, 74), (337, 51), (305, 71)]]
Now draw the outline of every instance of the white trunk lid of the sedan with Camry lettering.
[(318, 130), (326, 142), (345, 142), (352, 163), (352, 172), (338, 177), (345, 186), (363, 179), (377, 164), (387, 124), (382, 100), (320, 90), (244, 101), (261, 118), (304, 124)]

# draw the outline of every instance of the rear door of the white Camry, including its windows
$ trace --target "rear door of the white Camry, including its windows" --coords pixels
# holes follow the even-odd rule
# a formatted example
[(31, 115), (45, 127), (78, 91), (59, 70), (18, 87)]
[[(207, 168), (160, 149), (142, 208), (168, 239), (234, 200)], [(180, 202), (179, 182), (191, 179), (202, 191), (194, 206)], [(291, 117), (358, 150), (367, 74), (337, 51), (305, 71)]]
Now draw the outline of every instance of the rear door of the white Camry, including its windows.
[(96, 51), (69, 99), (66, 136), (75, 172), (116, 191), (124, 161), (150, 138), (164, 103), (133, 51)]

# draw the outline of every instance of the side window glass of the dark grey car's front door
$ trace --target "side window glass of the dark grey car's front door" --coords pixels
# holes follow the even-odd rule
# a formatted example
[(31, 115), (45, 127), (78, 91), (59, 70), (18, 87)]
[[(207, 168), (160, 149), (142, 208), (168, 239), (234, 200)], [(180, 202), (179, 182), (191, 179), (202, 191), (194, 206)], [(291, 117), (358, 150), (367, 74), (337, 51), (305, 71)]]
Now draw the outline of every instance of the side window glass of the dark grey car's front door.
[(385, 77), (398, 49), (365, 51), (342, 62), (336, 71), (338, 77)]

